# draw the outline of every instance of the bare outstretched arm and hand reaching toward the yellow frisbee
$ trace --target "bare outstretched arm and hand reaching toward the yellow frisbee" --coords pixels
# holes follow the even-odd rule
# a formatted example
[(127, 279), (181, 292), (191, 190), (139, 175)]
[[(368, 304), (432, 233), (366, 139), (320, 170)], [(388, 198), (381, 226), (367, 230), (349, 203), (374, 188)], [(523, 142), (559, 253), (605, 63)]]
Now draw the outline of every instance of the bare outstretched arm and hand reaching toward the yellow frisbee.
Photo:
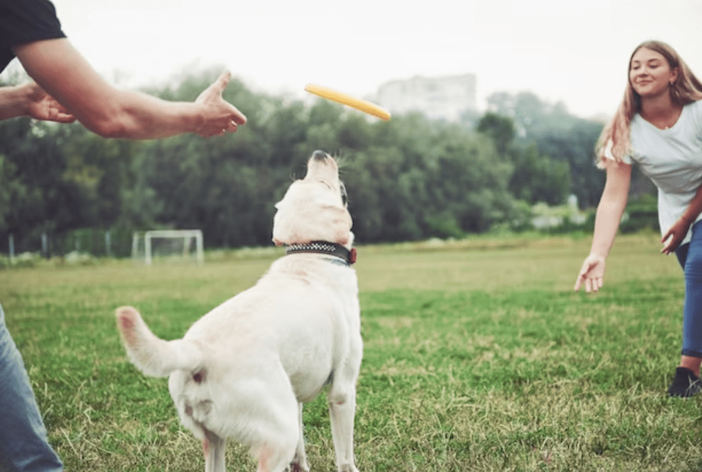
[(27, 74), (88, 130), (102, 137), (152, 139), (195, 133), (202, 137), (234, 132), (246, 117), (222, 93), (223, 74), (195, 102), (166, 102), (107, 83), (67, 39), (15, 46)]

